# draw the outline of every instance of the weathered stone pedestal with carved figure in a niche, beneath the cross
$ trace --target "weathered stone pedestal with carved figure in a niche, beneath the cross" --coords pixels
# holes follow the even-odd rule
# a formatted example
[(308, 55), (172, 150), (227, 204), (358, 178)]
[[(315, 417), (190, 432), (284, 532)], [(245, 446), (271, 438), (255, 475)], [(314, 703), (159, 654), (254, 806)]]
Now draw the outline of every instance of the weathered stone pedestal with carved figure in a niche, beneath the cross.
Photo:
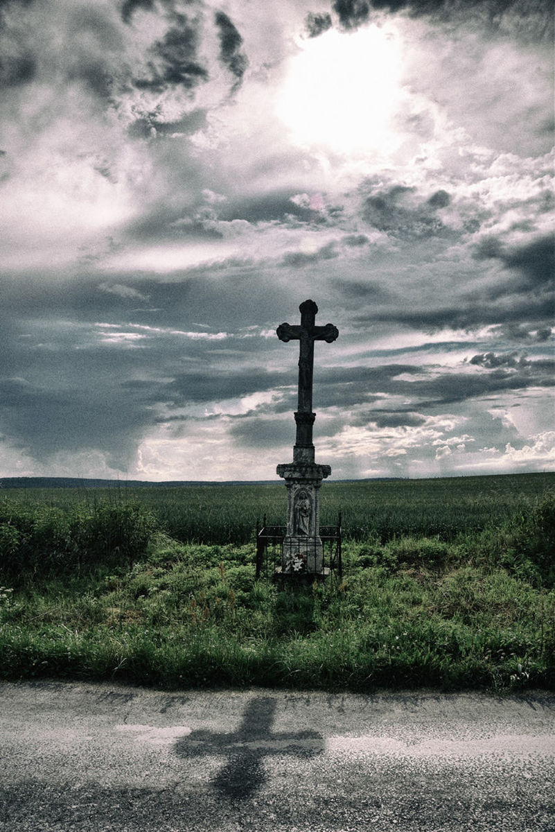
[[(308, 450), (306, 456), (310, 458), (312, 454)], [(295, 461), (278, 465), (278, 476), (285, 480), (287, 486), (287, 531), (283, 540), (282, 574), (322, 573), (319, 489), (322, 479), (329, 477), (332, 468), (303, 461), (302, 456), (302, 453), (295, 453)]]

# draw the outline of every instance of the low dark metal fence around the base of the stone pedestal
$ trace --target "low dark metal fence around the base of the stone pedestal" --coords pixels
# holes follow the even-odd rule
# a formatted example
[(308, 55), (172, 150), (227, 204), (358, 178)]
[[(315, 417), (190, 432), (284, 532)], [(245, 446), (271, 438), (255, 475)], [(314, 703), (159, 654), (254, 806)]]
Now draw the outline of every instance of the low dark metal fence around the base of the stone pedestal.
[[(256, 527), (256, 579), (269, 578), (304, 578), (327, 577), (333, 574), (341, 578), (343, 567), (341, 562), (341, 513), (336, 526), (321, 526), (320, 540), (322, 541), (322, 572), (282, 572), (283, 541), (285, 526), (267, 526), (264, 515), (262, 526), (257, 522)], [(307, 552), (307, 542), (299, 542), (299, 549)], [(316, 548), (316, 544), (315, 544)]]

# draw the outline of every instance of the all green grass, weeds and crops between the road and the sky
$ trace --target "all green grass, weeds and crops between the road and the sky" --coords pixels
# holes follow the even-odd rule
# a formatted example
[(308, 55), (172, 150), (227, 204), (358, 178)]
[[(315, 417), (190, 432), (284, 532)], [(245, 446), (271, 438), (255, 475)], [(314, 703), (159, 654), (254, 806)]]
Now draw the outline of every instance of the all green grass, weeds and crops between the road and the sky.
[(7, 491), (0, 676), (555, 689), (555, 474), (326, 483), (344, 575), (254, 580), (285, 488)]

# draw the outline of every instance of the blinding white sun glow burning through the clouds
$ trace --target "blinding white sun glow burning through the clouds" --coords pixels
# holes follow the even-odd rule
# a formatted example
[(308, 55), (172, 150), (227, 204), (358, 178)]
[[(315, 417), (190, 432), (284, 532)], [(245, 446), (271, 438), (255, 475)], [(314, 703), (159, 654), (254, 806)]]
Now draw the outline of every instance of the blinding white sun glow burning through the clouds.
[(386, 153), (399, 143), (391, 117), (400, 87), (401, 44), (393, 27), (331, 30), (302, 42), (277, 113), (299, 145), (338, 153)]

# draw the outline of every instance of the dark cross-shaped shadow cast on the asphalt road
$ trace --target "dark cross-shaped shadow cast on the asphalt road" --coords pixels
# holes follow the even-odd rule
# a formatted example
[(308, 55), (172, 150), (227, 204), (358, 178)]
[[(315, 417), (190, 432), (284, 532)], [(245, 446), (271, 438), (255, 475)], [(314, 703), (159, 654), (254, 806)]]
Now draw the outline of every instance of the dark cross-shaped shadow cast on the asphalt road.
[(317, 731), (274, 733), (276, 706), (277, 701), (270, 696), (259, 696), (248, 703), (237, 730), (228, 734), (195, 730), (177, 741), (177, 754), (184, 759), (209, 755), (227, 757), (213, 780), (215, 790), (234, 800), (252, 797), (268, 780), (264, 757), (296, 755), (307, 758), (321, 754), (324, 749), (323, 737)]

